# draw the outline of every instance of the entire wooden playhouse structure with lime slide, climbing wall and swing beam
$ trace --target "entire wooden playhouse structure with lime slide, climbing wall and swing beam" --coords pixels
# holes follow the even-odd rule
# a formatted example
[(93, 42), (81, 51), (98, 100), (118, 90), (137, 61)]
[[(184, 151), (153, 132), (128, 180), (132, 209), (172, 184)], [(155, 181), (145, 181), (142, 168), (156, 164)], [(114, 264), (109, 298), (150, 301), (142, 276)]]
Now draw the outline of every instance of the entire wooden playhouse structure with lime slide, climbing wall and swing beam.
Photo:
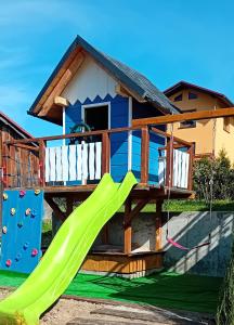
[[(30, 114), (63, 125), (64, 134), (4, 142), (1, 268), (27, 273), (36, 268), (43, 198), (63, 225), (25, 284), (0, 303), (0, 324), (38, 324), (79, 269), (125, 276), (160, 270), (162, 203), (169, 194), (193, 194), (194, 144), (167, 133), (166, 125), (229, 117), (234, 109), (179, 114), (146, 78), (78, 37)], [(81, 122), (92, 130), (70, 134)], [(20, 169), (17, 147), (29, 154)], [(38, 158), (32, 173), (25, 164), (31, 154)], [(65, 211), (55, 198), (66, 202)], [(134, 252), (132, 220), (150, 202), (156, 207), (155, 247)], [(74, 210), (77, 203), (82, 204)], [(122, 205), (123, 243), (112, 250), (108, 221)], [(104, 251), (93, 245), (100, 232)]]

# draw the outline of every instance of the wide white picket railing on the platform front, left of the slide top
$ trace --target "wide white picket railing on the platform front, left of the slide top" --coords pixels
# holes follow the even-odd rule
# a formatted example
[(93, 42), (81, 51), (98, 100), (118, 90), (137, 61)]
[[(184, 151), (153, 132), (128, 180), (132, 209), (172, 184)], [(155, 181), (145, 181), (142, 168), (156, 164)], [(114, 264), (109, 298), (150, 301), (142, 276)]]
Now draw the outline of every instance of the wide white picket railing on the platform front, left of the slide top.
[(46, 148), (46, 182), (100, 180), (102, 142)]

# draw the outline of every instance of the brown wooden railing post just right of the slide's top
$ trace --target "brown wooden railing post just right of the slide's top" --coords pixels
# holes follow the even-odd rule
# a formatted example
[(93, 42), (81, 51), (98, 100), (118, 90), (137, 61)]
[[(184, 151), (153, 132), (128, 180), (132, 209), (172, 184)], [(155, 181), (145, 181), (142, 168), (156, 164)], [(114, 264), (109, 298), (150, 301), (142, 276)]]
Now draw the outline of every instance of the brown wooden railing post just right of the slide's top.
[(147, 184), (148, 181), (148, 145), (150, 132), (147, 127), (143, 127), (141, 139), (141, 183)]

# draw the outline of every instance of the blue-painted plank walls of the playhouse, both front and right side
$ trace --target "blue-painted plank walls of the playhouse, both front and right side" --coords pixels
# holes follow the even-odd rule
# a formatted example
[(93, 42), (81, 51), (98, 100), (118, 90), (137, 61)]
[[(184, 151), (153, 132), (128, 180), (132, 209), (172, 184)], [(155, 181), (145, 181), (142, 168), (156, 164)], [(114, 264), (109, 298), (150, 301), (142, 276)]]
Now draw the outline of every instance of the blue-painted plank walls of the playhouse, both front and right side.
[[(87, 99), (83, 103), (77, 101), (66, 109), (66, 132), (81, 121), (81, 106), (110, 102), (110, 128), (128, 127), (129, 103), (128, 98), (106, 95), (104, 99), (96, 96), (93, 101)], [(132, 118), (144, 118), (159, 116), (161, 113), (150, 104), (141, 104), (133, 100)], [(96, 107), (99, 109), (99, 107)], [(164, 126), (159, 127), (165, 130)], [(150, 183), (158, 183), (158, 147), (164, 146), (165, 139), (151, 133), (150, 136)], [(110, 173), (116, 182), (119, 182), (128, 171), (128, 133), (110, 134)], [(141, 133), (132, 132), (132, 171), (140, 181), (141, 177)]]

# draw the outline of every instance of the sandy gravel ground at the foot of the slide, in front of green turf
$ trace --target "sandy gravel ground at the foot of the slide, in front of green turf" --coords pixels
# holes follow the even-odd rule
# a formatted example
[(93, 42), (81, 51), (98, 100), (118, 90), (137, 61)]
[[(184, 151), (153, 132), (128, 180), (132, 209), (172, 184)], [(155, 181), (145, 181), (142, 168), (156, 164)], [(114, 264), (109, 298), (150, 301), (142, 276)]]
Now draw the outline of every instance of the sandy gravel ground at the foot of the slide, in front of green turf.
[[(4, 297), (6, 297), (10, 294), (8, 289), (0, 289), (0, 300), (2, 300)], [(110, 314), (99, 314), (99, 311), (102, 309), (107, 309), (107, 311), (110, 311)], [(112, 315), (112, 310), (116, 313), (117, 311), (121, 311), (122, 313), (133, 313), (133, 315), (136, 315), (139, 313), (142, 314), (154, 314), (156, 316), (156, 321), (142, 321), (142, 320), (134, 320), (133, 318), (128, 318), (128, 316), (113, 316)], [(174, 321), (174, 315), (179, 315), (179, 317)], [(73, 322), (75, 318), (81, 317), (84, 318), (84, 323), (81, 321)], [(187, 322), (187, 318), (191, 320)], [(203, 318), (203, 321), (202, 321)], [(93, 321), (91, 323), (86, 323), (88, 320)], [(95, 323), (96, 320), (96, 323)], [(115, 321), (112, 324), (139, 324), (139, 325), (166, 325), (166, 324), (171, 324), (171, 325), (196, 325), (196, 324), (211, 324), (208, 323), (207, 321), (204, 321), (204, 315), (196, 314), (196, 313), (179, 313), (179, 314), (173, 314), (173, 312), (169, 312), (162, 309), (157, 309), (154, 307), (129, 307), (128, 306), (121, 306), (121, 304), (108, 304), (106, 303), (93, 303), (93, 302), (88, 302), (88, 301), (79, 301), (79, 300), (74, 300), (74, 299), (64, 299), (61, 298), (47, 313), (44, 313), (40, 320), (40, 324), (42, 325), (65, 325), (69, 322), (70, 324), (110, 324), (110, 321)]]

